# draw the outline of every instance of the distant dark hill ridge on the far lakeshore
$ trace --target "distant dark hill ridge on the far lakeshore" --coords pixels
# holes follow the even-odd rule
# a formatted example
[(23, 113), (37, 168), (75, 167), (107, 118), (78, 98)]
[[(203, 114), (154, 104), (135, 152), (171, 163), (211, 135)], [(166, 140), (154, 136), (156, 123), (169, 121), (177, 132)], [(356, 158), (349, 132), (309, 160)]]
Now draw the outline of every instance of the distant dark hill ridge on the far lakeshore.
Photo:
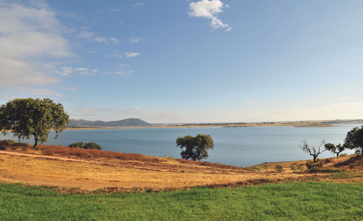
[(129, 118), (119, 121), (87, 121), (70, 119), (67, 126), (151, 126), (148, 122), (140, 120), (139, 118)]

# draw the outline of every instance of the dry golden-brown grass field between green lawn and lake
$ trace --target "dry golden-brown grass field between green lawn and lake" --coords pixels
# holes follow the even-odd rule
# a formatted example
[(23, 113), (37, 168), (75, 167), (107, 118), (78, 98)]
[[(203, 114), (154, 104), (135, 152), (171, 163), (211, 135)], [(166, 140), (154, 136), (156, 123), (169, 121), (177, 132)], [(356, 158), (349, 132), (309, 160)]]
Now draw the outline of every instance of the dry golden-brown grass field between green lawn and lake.
[[(293, 172), (291, 166), (303, 166), (306, 160), (260, 164), (262, 171), (209, 162), (123, 154), (112, 151), (39, 145), (2, 146), (0, 180), (32, 185), (77, 187), (82, 189), (189, 188), (193, 186), (230, 187), (264, 182), (335, 180), (362, 182), (363, 160), (360, 155), (320, 159), (322, 168), (343, 168), (349, 175)], [(284, 167), (282, 173), (273, 168)], [(266, 167), (265, 167), (266, 165)], [(269, 172), (266, 172), (269, 170)]]

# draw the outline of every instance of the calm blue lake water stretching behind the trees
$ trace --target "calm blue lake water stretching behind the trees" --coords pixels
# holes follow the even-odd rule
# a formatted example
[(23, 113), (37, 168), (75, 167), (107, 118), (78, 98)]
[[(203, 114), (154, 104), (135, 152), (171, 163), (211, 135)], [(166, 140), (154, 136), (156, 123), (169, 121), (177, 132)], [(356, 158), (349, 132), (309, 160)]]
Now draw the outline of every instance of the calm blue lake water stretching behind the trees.
[[(310, 146), (319, 146), (322, 138), (327, 143), (343, 143), (348, 132), (357, 124), (326, 128), (294, 128), (288, 126), (258, 126), (245, 128), (134, 128), (65, 130), (58, 139), (55, 133), (49, 134), (47, 144), (68, 146), (83, 141), (95, 142), (102, 150), (124, 153), (140, 153), (154, 156), (180, 158), (180, 148), (175, 140), (185, 135), (210, 134), (214, 150), (209, 150), (210, 162), (234, 166), (253, 166), (262, 162), (310, 159), (310, 155), (299, 148), (301, 141), (307, 140)], [(0, 139), (11, 139), (12, 135)], [(17, 141), (16, 138), (13, 138)], [(25, 141), (33, 143), (33, 140)], [(354, 150), (343, 153), (354, 153)], [(325, 151), (319, 157), (333, 157)]]

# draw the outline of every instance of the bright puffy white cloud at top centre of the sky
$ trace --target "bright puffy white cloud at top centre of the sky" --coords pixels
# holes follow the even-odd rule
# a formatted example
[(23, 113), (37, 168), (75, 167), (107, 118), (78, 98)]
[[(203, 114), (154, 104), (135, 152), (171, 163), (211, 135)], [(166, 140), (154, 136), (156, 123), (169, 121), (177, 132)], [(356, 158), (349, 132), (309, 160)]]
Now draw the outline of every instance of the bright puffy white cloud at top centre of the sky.
[[(190, 11), (188, 13), (190, 17), (203, 17), (212, 20), (209, 25), (211, 25), (213, 29), (224, 27), (227, 28), (228, 32), (232, 30), (229, 25), (224, 24), (217, 18), (218, 14), (222, 12), (224, 7), (220, 0), (201, 0), (192, 2), (189, 4), (189, 7)], [(229, 8), (229, 5), (226, 6), (226, 8)]]

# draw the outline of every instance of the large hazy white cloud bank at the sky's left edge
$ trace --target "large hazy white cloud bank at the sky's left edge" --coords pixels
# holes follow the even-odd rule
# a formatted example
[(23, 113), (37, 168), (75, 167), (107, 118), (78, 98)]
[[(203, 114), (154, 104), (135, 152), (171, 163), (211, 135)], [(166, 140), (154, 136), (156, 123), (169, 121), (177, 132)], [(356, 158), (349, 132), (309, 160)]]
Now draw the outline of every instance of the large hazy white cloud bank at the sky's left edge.
[(46, 3), (0, 1), (0, 86), (59, 82), (43, 72), (42, 61), (74, 56), (63, 37), (69, 32)]

